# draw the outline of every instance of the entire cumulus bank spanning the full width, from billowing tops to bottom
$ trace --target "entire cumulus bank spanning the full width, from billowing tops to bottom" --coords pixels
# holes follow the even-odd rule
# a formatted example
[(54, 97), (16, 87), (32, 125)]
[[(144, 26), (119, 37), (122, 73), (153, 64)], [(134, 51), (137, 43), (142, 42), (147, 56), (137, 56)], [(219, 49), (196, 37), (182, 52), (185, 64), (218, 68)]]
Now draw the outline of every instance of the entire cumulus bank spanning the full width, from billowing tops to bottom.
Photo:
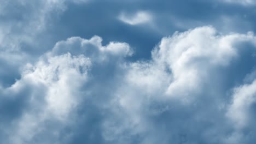
[(152, 59), (136, 62), (126, 59), (127, 43), (59, 41), (1, 87), (0, 110), (20, 105), (15, 116), (3, 112), (0, 136), (5, 143), (252, 143), (254, 64), (236, 70), (253, 58), (255, 39), (198, 27), (162, 38)]

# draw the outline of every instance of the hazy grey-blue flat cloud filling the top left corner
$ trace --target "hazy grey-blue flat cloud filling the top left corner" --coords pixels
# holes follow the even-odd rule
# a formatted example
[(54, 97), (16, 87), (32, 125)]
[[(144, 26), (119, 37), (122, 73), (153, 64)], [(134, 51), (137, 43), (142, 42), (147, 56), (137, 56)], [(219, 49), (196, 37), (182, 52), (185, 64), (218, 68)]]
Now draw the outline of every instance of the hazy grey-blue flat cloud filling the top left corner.
[(41, 34), (52, 25), (54, 19), (67, 9), (66, 3), (66, 0), (36, 2), (15, 0), (1, 3), (0, 16), (3, 22), (0, 24), (0, 50), (15, 52), (21, 49), (26, 51), (25, 46), (36, 47), (34, 41), (40, 42), (38, 36), (42, 36)]

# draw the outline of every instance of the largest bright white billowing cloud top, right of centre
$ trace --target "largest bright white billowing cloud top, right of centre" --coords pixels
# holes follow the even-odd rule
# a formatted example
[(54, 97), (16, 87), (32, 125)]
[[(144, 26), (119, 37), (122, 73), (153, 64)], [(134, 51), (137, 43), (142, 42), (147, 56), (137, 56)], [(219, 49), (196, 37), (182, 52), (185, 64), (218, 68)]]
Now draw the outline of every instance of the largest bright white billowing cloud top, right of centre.
[(159, 49), (153, 51), (153, 59), (172, 71), (173, 81), (167, 95), (183, 95), (188, 100), (195, 92), (200, 93), (203, 83), (211, 81), (211, 69), (228, 65), (238, 55), (236, 43), (254, 40), (250, 33), (217, 35), (213, 27), (199, 27), (163, 38)]

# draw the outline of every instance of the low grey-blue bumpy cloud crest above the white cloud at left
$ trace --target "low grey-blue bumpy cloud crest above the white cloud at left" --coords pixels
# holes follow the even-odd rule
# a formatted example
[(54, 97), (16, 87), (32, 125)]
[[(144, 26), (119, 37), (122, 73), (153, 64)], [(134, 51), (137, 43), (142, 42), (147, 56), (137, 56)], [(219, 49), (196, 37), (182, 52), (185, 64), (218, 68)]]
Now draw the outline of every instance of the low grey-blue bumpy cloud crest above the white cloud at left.
[(131, 56), (132, 50), (129, 44), (111, 41), (108, 45), (102, 46), (102, 38), (94, 36), (91, 39), (82, 39), (80, 37), (68, 38), (66, 41), (59, 41), (53, 48), (54, 55), (71, 52), (74, 55), (84, 53), (84, 55), (104, 61), (107, 55), (114, 57)]

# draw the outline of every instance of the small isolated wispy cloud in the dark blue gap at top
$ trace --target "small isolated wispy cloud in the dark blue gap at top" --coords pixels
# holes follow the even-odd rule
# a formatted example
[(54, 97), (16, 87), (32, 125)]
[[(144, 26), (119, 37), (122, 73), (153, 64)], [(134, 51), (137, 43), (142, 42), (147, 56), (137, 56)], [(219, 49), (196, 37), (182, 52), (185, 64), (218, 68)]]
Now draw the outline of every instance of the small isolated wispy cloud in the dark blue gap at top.
[(150, 15), (146, 11), (138, 11), (134, 15), (127, 15), (125, 13), (121, 13), (118, 19), (120, 21), (128, 23), (129, 25), (138, 25), (150, 22), (152, 20), (152, 15)]

